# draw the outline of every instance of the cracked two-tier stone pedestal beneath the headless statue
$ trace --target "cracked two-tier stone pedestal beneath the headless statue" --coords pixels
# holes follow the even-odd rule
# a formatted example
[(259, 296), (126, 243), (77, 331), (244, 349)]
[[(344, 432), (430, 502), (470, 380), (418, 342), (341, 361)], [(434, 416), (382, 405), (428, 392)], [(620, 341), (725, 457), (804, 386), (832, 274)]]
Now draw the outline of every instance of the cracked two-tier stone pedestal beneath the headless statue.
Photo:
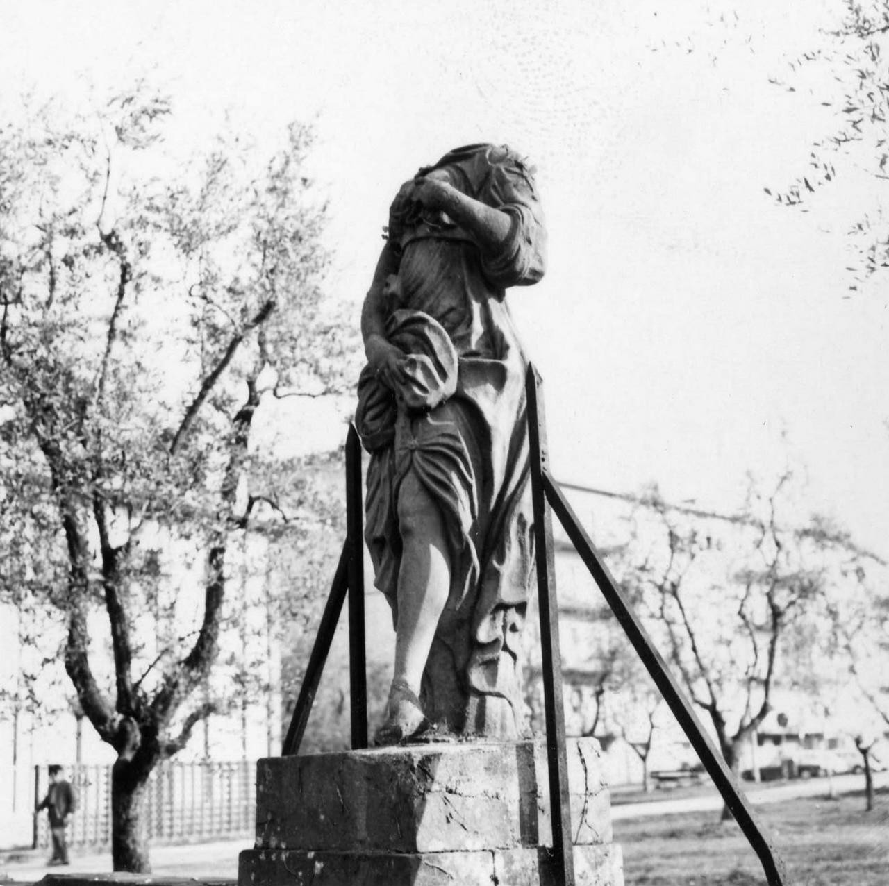
[[(578, 886), (623, 886), (595, 742), (568, 743)], [(260, 760), (240, 886), (561, 886), (540, 742)]]

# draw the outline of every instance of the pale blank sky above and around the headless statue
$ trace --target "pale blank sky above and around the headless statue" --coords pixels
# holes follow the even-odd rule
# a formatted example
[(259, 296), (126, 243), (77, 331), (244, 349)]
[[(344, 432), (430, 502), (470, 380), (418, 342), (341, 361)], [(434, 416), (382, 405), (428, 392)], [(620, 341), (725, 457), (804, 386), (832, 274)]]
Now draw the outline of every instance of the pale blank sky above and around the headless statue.
[[(841, 5), (0, 0), (0, 106), (145, 77), (183, 147), (227, 118), (263, 146), (313, 123), (327, 286), (356, 322), (400, 183), (457, 145), (509, 143), (549, 227), (546, 277), (509, 302), (556, 475), (732, 511), (748, 472), (789, 466), (800, 519), (832, 515), (889, 557), (885, 280), (846, 298), (845, 232), (873, 183), (837, 163), (808, 212), (764, 192), (805, 172), (837, 92), (828, 66), (796, 92), (769, 79), (796, 76)], [(288, 408), (264, 417), (285, 448), (342, 439), (348, 403)]]

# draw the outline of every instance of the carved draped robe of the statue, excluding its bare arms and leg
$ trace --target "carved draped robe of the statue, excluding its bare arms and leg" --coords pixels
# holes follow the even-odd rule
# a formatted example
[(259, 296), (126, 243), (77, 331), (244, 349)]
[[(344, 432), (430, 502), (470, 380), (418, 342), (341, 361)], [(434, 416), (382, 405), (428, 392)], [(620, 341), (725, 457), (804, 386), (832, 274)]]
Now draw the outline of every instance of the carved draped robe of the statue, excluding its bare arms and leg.
[(452, 566), (424, 711), (458, 734), (511, 738), (524, 723), (519, 646), (534, 554), (526, 361), (505, 290), (541, 278), (546, 235), (533, 171), (509, 148), (458, 148), (420, 173), (432, 169), (511, 226), (492, 251), (412, 203), (411, 182), (391, 206), (386, 333), (407, 355), (408, 380), (392, 392), (367, 367), (359, 381), (356, 424), (372, 453), (365, 539), (397, 624), (397, 499), (413, 472), (440, 508)]

